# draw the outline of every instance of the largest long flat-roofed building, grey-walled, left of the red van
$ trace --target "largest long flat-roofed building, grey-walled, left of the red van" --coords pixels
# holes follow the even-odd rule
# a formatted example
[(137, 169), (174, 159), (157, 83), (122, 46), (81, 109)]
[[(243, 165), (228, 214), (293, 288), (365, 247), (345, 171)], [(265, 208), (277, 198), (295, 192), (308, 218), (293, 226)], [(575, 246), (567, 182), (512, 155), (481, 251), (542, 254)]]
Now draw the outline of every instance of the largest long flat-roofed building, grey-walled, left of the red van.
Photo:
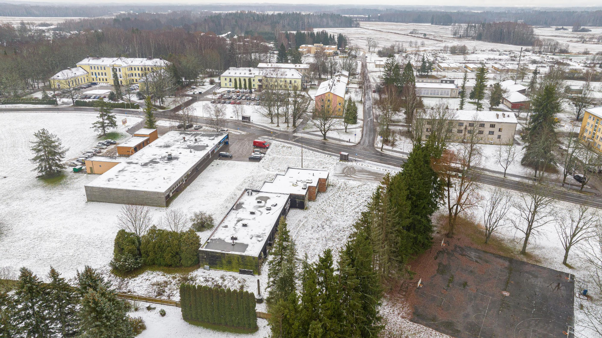
[[(126, 158), (106, 164), (96, 156), (92, 168), (111, 165), (85, 185), (88, 201), (166, 207), (184, 183), (202, 170), (219, 149), (228, 144), (227, 133), (170, 131)], [(104, 167), (106, 168), (106, 167)]]

